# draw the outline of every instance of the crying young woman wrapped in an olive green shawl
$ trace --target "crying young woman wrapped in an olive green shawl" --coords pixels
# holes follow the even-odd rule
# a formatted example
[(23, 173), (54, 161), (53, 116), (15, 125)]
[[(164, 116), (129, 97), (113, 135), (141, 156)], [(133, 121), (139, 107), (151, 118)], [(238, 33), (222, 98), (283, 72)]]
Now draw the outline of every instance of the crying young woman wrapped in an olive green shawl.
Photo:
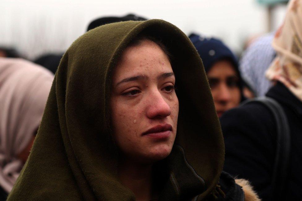
[(223, 162), (188, 37), (157, 19), (106, 24), (64, 54), (8, 200), (258, 200)]

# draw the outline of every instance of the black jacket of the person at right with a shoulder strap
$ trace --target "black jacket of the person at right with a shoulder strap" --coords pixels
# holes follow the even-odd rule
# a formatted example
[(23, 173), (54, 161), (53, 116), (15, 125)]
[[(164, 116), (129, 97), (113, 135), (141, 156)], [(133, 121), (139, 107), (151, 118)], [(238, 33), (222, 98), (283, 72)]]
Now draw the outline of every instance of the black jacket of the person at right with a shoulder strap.
[[(291, 130), (291, 158), (284, 197), (302, 198), (302, 102), (282, 83), (272, 87), (266, 96), (278, 101)], [(248, 179), (263, 200), (272, 200), (271, 177), (275, 156), (276, 125), (270, 111), (260, 103), (231, 109), (221, 117), (225, 138), (224, 171)]]

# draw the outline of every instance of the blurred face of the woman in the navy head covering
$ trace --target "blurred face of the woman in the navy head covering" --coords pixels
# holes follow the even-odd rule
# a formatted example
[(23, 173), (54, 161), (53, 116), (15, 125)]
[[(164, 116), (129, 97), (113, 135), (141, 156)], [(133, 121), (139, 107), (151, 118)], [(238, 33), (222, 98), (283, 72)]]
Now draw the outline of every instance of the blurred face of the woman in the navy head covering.
[(237, 73), (231, 62), (222, 60), (214, 63), (207, 73), (218, 117), (240, 103)]

